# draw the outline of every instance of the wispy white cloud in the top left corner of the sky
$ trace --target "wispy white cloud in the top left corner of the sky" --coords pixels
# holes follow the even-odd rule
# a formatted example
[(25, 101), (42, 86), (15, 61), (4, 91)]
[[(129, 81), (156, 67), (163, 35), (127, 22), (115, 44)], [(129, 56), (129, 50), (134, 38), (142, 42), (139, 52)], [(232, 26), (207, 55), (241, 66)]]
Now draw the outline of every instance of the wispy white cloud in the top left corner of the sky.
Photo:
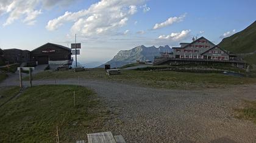
[(18, 19), (27, 25), (33, 25), (42, 9), (53, 7), (54, 5), (67, 5), (77, 0), (1, 0), (0, 16), (8, 15), (4, 26), (12, 24)]

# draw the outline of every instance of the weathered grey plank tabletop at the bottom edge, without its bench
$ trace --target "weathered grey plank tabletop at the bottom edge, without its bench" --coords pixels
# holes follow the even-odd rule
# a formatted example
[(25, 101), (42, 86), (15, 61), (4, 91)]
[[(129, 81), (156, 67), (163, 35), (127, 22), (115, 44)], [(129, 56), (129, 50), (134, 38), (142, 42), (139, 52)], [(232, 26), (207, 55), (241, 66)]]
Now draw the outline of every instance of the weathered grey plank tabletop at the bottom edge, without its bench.
[(110, 131), (87, 134), (88, 143), (116, 143)]

